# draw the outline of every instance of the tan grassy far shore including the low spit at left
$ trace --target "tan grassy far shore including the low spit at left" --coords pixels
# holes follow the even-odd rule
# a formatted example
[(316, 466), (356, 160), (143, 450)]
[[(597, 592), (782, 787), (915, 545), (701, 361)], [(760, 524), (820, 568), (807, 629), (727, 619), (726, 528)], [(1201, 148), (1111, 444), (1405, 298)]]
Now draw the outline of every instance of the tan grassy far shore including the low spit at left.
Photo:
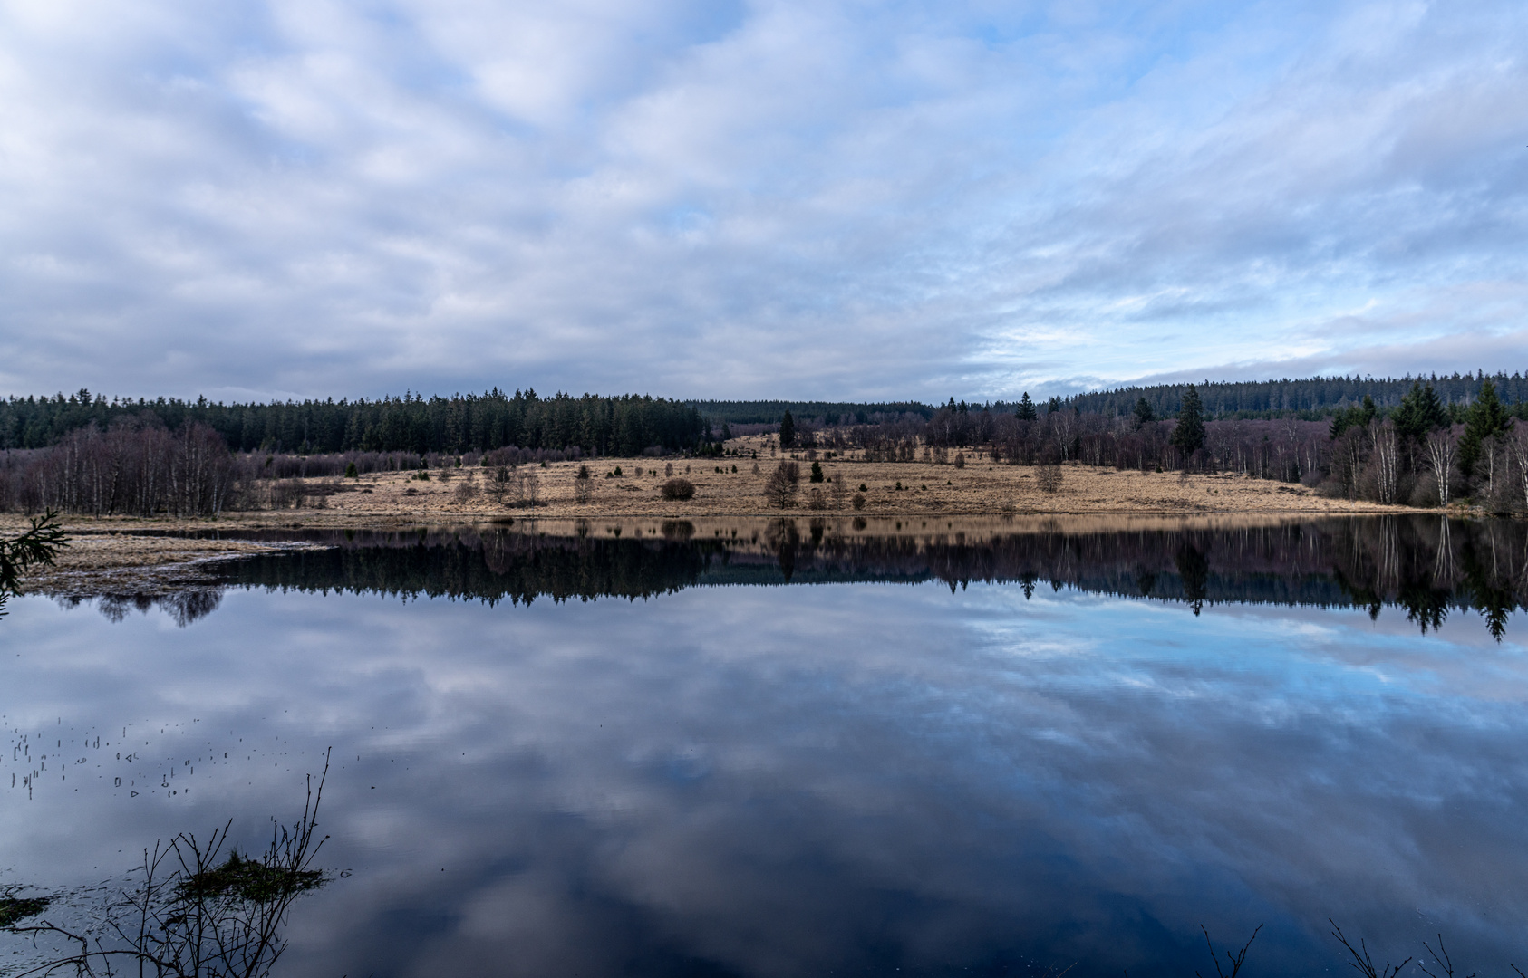
[[(1303, 485), (1241, 475), (1117, 471), (1070, 464), (1057, 491), (1045, 493), (1027, 465), (967, 464), (957, 468), (934, 462), (822, 461), (821, 485), (802, 468), (798, 505), (766, 505), (762, 484), (778, 459), (689, 459), (674, 464), (675, 478), (695, 485), (691, 500), (660, 494), (668, 462), (652, 459), (597, 459), (590, 464), (593, 499), (576, 502), (578, 462), (524, 467), (535, 479), (533, 507), (510, 507), (486, 493), (489, 473), (455, 468), (428, 481), (416, 473), (370, 473), (358, 479), (322, 478), (284, 481), (289, 494), (301, 491), (304, 505), (283, 510), (225, 513), (219, 519), (182, 517), (64, 517), (72, 546), (55, 568), (29, 574), (29, 594), (92, 595), (163, 594), (209, 580), (209, 561), (237, 560), (260, 552), (322, 548), (325, 543), (293, 539), (303, 531), (419, 531), (474, 532), (516, 528), (518, 532), (633, 537), (680, 534), (747, 534), (772, 520), (824, 520), (833, 532), (929, 536), (958, 532), (972, 540), (992, 534), (1053, 532), (1060, 528), (1161, 528), (1276, 523), (1313, 517), (1383, 514), (1476, 516), (1464, 508), (1421, 510), (1383, 507), (1319, 496)], [(622, 475), (613, 476), (616, 467)], [(738, 471), (733, 473), (732, 467)], [(686, 473), (685, 470), (689, 468)], [(718, 471), (718, 468), (721, 471)], [(640, 470), (640, 475), (637, 475)], [(825, 508), (804, 505), (811, 488), (830, 490), (842, 475), (847, 491), (834, 499), (824, 491)], [(895, 488), (902, 484), (903, 488)], [(860, 493), (860, 485), (865, 491)], [(865, 497), (853, 508), (853, 496)], [(929, 523), (934, 526), (929, 526)], [(943, 526), (940, 525), (943, 523)], [(960, 526), (957, 526), (960, 523)], [(0, 514), (0, 532), (26, 526), (21, 514)], [(698, 528), (698, 529), (697, 529)], [(211, 536), (209, 536), (211, 534)], [(228, 536), (225, 536), (228, 534)], [(270, 539), (251, 539), (266, 534)], [(240, 539), (243, 537), (243, 539)], [(280, 539), (286, 537), (286, 539)]]

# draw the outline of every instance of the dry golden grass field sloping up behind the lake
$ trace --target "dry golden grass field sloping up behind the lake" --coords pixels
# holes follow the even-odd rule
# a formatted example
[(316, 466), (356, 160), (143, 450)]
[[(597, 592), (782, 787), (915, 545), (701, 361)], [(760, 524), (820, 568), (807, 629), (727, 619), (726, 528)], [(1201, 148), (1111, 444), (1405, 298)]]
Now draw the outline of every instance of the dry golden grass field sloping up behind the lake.
[[(432, 470), (428, 479), (416, 473), (370, 473), (359, 479), (307, 479), (306, 499), (290, 508), (226, 513), (217, 523), (240, 526), (362, 526), (396, 523), (481, 522), (498, 517), (536, 520), (610, 517), (769, 517), (769, 516), (1015, 516), (1015, 514), (1354, 514), (1397, 513), (1404, 507), (1381, 507), (1317, 494), (1303, 485), (1251, 479), (1241, 475), (1190, 475), (1175, 471), (1115, 471), (1067, 464), (1059, 485), (1042, 488), (1044, 473), (1031, 465), (993, 464), (972, 452), (964, 467), (934, 462), (865, 462), (824, 459), (825, 482), (811, 484), (811, 462), (804, 455), (770, 456), (762, 439), (735, 439), (732, 449), (758, 450), (753, 459), (594, 459), (587, 462), (591, 479), (588, 500), (576, 494), (578, 462), (523, 467), (527, 485), (523, 499), (515, 491), (495, 499), (486, 468)], [(796, 461), (801, 481), (793, 505), (772, 505), (764, 484), (781, 461)], [(666, 500), (662, 493), (672, 465), (675, 478), (688, 479), (695, 494)], [(616, 473), (620, 473), (619, 476)], [(834, 478), (842, 476), (842, 493)], [(533, 488), (532, 488), (533, 485)], [(821, 499), (813, 502), (813, 490)], [(530, 496), (535, 496), (533, 505)], [(856, 496), (862, 505), (856, 508)], [(0, 528), (20, 526), (15, 514), (0, 517)], [(167, 526), (179, 520), (89, 520), (70, 517), (69, 526), (110, 523)], [(206, 520), (191, 523), (208, 525)]]

